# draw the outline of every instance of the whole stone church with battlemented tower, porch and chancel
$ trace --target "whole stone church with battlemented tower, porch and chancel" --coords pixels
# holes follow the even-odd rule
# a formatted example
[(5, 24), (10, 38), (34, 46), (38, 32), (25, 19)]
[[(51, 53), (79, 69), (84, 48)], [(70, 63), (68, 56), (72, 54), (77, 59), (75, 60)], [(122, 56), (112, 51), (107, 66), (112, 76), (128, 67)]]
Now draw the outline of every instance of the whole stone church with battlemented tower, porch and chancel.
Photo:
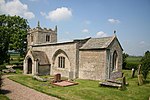
[(61, 74), (69, 79), (103, 80), (122, 76), (122, 47), (116, 37), (57, 42), (55, 29), (30, 29), (24, 74)]

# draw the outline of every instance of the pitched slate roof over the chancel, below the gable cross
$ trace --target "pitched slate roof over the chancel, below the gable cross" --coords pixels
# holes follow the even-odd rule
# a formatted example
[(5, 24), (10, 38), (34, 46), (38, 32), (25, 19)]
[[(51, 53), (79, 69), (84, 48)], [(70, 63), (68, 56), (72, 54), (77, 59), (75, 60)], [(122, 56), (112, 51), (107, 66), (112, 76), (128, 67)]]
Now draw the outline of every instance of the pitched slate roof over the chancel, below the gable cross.
[(80, 49), (105, 49), (114, 40), (115, 36), (90, 38)]

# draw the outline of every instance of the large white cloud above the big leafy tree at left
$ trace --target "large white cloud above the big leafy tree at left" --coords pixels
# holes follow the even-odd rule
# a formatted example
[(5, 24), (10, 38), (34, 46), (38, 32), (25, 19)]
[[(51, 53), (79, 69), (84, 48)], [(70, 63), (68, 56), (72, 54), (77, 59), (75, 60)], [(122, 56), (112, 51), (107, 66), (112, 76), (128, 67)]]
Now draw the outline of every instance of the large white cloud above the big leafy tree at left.
[(19, 0), (12, 0), (9, 2), (0, 0), (0, 14), (18, 15), (27, 19), (35, 17), (33, 12), (28, 10), (28, 6), (21, 3)]

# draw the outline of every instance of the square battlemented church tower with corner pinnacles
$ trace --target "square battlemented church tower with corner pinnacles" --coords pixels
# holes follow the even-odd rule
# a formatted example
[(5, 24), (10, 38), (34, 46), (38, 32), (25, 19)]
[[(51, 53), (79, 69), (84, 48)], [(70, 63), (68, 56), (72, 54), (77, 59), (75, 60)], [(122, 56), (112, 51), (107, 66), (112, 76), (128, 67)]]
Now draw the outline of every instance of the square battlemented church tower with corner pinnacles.
[(56, 43), (57, 42), (57, 26), (55, 29), (41, 28), (40, 22), (36, 28), (29, 29), (27, 35), (28, 46), (43, 43)]

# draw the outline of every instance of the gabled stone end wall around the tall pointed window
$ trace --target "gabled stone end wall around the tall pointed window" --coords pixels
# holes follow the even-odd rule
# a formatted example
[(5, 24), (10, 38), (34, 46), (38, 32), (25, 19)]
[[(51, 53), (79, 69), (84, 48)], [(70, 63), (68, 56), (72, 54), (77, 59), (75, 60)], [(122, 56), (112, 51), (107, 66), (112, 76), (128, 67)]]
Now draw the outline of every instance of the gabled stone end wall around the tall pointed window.
[[(112, 64), (113, 64), (113, 53), (117, 52), (117, 66), (115, 70), (112, 70)], [(119, 78), (122, 76), (122, 48), (117, 40), (114, 39), (114, 41), (111, 43), (111, 45), (108, 47), (107, 50), (107, 67), (106, 67), (106, 78), (114, 79)]]

